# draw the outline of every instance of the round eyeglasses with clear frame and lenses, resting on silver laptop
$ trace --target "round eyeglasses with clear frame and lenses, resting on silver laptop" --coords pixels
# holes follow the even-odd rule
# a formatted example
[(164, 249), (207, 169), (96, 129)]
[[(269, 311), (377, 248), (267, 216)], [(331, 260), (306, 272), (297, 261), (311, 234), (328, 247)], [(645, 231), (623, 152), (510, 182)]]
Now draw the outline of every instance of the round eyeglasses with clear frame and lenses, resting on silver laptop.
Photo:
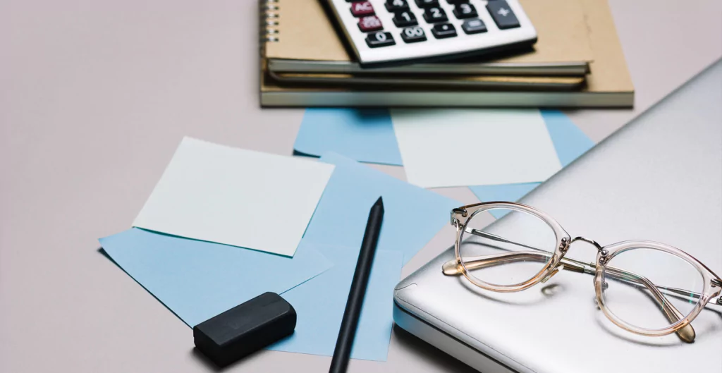
[[(487, 226), (479, 214), (498, 219)], [(722, 305), (722, 278), (684, 251), (659, 242), (624, 241), (602, 247), (571, 236), (551, 216), (511, 202), (477, 203), (451, 211), (456, 259), (448, 276), (498, 292), (529, 289), (561, 270), (594, 276), (599, 309), (615, 325), (648, 336), (677, 333), (695, 340), (690, 325), (710, 305)], [(565, 258), (576, 241), (596, 247), (596, 263)], [(713, 300), (713, 298), (717, 299)]]

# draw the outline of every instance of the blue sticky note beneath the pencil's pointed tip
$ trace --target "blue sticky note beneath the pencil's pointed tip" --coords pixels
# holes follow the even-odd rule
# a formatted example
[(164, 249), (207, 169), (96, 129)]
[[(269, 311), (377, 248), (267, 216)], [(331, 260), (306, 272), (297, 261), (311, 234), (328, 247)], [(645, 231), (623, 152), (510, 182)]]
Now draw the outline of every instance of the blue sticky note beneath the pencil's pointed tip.
[(395, 250), (408, 262), (448, 224), (451, 209), (461, 203), (374, 170), (336, 153), (321, 162), (335, 164), (303, 240), (317, 244), (360, 247), (368, 212), (383, 197), (379, 250)]

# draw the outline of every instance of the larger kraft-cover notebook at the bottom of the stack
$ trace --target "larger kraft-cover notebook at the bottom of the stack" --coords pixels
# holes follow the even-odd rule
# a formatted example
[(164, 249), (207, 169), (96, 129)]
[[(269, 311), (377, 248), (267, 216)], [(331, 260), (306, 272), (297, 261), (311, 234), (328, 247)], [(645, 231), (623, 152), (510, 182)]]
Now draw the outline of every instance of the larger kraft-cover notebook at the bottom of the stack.
[[(593, 54), (586, 87), (579, 91), (544, 89), (438, 89), (406, 87), (352, 89), (305, 84), (281, 86), (266, 75), (261, 55), (261, 105), (301, 107), (631, 107), (634, 87), (606, 0), (583, 0)], [(281, 12), (282, 13), (282, 12)], [(268, 20), (268, 19), (267, 19)], [(270, 43), (269, 43), (270, 44)]]

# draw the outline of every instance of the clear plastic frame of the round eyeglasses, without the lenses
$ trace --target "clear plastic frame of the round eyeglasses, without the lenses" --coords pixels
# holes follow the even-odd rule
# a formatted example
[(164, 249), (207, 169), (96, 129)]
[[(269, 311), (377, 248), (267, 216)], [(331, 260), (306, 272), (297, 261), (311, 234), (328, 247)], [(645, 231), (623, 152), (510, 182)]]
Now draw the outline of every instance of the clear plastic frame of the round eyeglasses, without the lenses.
[[(557, 240), (554, 253), (506, 240), (504, 237), (499, 237), (495, 234), (466, 227), (467, 222), (472, 216), (490, 209), (508, 209), (512, 211), (519, 211), (536, 216), (536, 218), (547, 223), (554, 231)], [(447, 276), (463, 275), (471, 282), (471, 284), (479, 286), (482, 289), (498, 292), (522, 291), (529, 289), (531, 286), (539, 284), (540, 282), (546, 282), (562, 269), (578, 273), (592, 274), (594, 275), (594, 289), (599, 308), (602, 312), (604, 312), (604, 315), (614, 322), (615, 325), (619, 326), (619, 328), (623, 328), (632, 333), (647, 336), (660, 336), (677, 333), (682, 341), (688, 343), (695, 340), (695, 330), (692, 328), (692, 325), (690, 325), (692, 320), (695, 320), (695, 317), (697, 317), (697, 315), (699, 315), (708, 304), (722, 305), (722, 297), (720, 296), (720, 293), (722, 292), (722, 278), (713, 273), (713, 271), (711, 271), (710, 268), (705, 266), (703, 263), (700, 263), (699, 260), (693, 258), (692, 255), (684, 253), (684, 251), (679, 250), (676, 247), (665, 245), (660, 242), (635, 240), (617, 242), (603, 247), (597, 242), (585, 237), (571, 238), (570, 234), (568, 234), (556, 220), (552, 219), (551, 216), (544, 214), (544, 212), (534, 209), (533, 207), (513, 202), (488, 202), (461, 206), (458, 209), (453, 209), (451, 211), (451, 225), (456, 227), (456, 258), (443, 264), (443, 273)], [(461, 258), (461, 237), (464, 233), (474, 234), (497, 242), (505, 242), (506, 244), (519, 245), (528, 250), (516, 252), (509, 251), (508, 253), (495, 255), (474, 256), (473, 258)], [(575, 241), (588, 242), (596, 247), (598, 250), (598, 253), (596, 254), (596, 263), (584, 263), (580, 260), (565, 258), (565, 254), (569, 250), (570, 245)], [(622, 269), (606, 265), (610, 260), (612, 260), (612, 258), (614, 258), (614, 256), (633, 248), (659, 250), (664, 253), (676, 255), (678, 258), (687, 261), (687, 263), (690, 263), (690, 265), (700, 272), (703, 278), (703, 291), (701, 293), (697, 293), (695, 291), (685, 289), (656, 286), (649, 281), (648, 278), (645, 278), (641, 274), (624, 271)], [(543, 268), (541, 268), (541, 271), (539, 271), (536, 276), (527, 281), (510, 286), (490, 284), (470, 275), (469, 273), (469, 270), (476, 268), (486, 268), (489, 266), (498, 266), (500, 264), (518, 261), (538, 261), (546, 264)], [(610, 312), (604, 304), (604, 276), (608, 276), (619, 281), (625, 281), (628, 284), (647, 289), (653, 300), (658, 304), (661, 312), (664, 312), (664, 317), (669, 320), (669, 327), (662, 329), (638, 328), (635, 325), (630, 325), (624, 320), (620, 320), (619, 317)], [(675, 295), (694, 297), (695, 299), (698, 299), (698, 302), (695, 307), (692, 308), (692, 311), (685, 316), (682, 315), (682, 312), (679, 312), (679, 310), (677, 310), (677, 308), (675, 308), (674, 305), (666, 298), (666, 296), (674, 297)], [(713, 301), (715, 297), (717, 297), (717, 299)]]

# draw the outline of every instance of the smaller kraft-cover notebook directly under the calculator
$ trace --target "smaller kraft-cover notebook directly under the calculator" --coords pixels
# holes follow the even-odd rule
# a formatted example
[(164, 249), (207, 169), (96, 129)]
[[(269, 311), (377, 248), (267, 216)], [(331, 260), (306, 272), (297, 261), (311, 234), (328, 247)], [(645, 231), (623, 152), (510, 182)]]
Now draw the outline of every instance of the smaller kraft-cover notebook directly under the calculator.
[[(586, 74), (592, 52), (580, 3), (521, 0), (521, 4), (539, 33), (533, 51), (493, 61), (482, 56), (465, 63), (421, 63), (373, 69), (374, 74)], [(277, 14), (277, 18), (269, 19), (271, 24), (266, 25), (266, 31), (270, 32), (265, 45), (269, 71), (355, 74), (368, 71), (349, 57), (319, 0), (270, 0), (264, 7), (268, 14)]]

